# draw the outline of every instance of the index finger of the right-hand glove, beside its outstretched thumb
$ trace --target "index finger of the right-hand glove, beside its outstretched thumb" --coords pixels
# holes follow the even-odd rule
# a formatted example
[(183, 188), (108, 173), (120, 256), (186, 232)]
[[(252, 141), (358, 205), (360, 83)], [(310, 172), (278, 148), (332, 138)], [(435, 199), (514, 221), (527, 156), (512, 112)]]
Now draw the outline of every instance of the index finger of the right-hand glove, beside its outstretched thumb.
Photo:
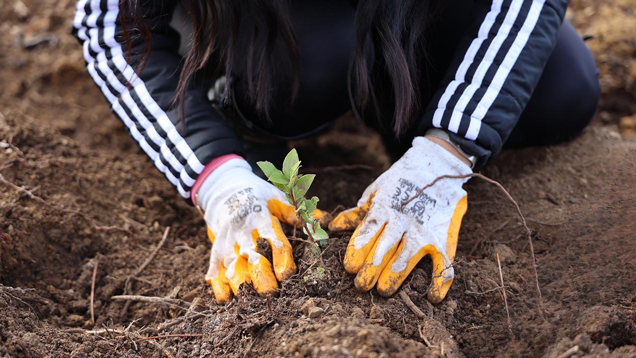
[(386, 222), (376, 215), (367, 215), (351, 235), (343, 264), (348, 273), (358, 273), (384, 231)]

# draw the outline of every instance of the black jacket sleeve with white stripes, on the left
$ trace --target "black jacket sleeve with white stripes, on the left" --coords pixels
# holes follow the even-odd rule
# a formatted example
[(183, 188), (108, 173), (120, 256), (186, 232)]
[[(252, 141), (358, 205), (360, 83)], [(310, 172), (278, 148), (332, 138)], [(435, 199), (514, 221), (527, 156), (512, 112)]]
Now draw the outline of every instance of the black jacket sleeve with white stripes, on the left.
[[(128, 56), (119, 3), (79, 0), (73, 34), (83, 45), (86, 68), (111, 109), (156, 168), (181, 196), (189, 199), (205, 164), (220, 155), (241, 154), (242, 143), (212, 108), (202, 87), (188, 89), (183, 124), (179, 110), (172, 105), (182, 60), (178, 54), (179, 34), (169, 25), (176, 0), (142, 2), (153, 39), (143, 67), (137, 62), (147, 44), (141, 36), (131, 36)], [(123, 8), (128, 5), (123, 4)], [(127, 13), (123, 15), (130, 18)]]

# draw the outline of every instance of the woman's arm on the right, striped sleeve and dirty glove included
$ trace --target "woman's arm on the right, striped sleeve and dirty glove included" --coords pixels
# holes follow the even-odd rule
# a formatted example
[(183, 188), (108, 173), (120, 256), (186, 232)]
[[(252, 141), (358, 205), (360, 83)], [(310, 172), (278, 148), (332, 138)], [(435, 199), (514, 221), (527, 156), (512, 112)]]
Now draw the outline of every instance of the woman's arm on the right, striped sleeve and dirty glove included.
[[(472, 173), (459, 149), (477, 157), (478, 164), (501, 150), (555, 45), (567, 1), (495, 0), (489, 5), (460, 42), (425, 111), (422, 135), (432, 128), (445, 131), (434, 134), (438, 138), (431, 138), (432, 132), (416, 137), (364, 191), (357, 207), (329, 224), (332, 231), (355, 229), (344, 265), (356, 274), (359, 290), (375, 286), (380, 295), (391, 296), (426, 255), (432, 260), (429, 301), (439, 303), (452, 285), (468, 203), (462, 185)], [(454, 178), (438, 180), (448, 175)]]

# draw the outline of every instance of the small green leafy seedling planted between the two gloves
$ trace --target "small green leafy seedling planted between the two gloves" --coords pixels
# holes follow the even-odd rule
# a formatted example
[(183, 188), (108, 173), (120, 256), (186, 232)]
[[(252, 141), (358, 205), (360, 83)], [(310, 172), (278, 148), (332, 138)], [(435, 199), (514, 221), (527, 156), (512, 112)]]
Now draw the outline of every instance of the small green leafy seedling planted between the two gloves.
[(259, 168), (265, 173), (267, 180), (278, 189), (282, 190), (287, 197), (289, 204), (296, 208), (296, 217), (309, 239), (317, 247), (322, 247), (329, 235), (320, 227), (320, 222), (314, 218), (314, 210), (319, 201), (314, 196), (306, 199), (305, 194), (314, 182), (315, 174), (299, 175), (300, 160), (296, 149), (292, 149), (282, 163), (282, 171), (277, 169), (271, 162), (258, 162)]

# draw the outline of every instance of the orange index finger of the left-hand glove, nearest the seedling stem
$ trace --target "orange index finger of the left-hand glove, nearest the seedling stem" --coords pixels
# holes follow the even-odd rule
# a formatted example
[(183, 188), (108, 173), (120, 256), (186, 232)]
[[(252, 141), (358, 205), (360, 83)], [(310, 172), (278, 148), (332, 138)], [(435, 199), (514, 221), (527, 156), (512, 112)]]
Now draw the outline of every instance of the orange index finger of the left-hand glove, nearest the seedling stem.
[(282, 227), (277, 217), (270, 214), (272, 222), (271, 230), (262, 230), (261, 234), (257, 229), (252, 231), (252, 240), (256, 246), (256, 240), (263, 238), (270, 243), (272, 247), (272, 263), (274, 273), (279, 281), (286, 280), (296, 272), (296, 262), (291, 249), (291, 244), (287, 240), (287, 236), (282, 232)]

